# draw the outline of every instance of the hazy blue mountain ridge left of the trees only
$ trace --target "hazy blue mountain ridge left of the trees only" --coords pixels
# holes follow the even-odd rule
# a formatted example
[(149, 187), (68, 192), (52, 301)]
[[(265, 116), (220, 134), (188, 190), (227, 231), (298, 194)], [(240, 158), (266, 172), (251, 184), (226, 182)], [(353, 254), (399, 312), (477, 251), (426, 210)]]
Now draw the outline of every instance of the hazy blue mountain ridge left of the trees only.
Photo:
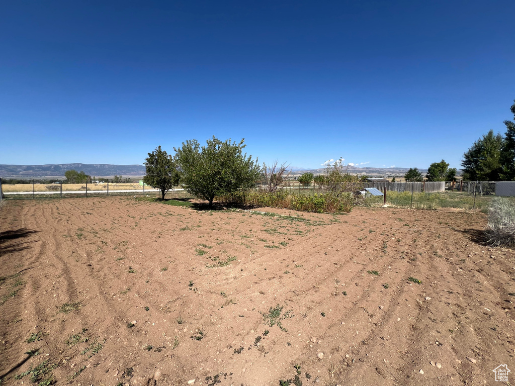
[(143, 165), (58, 164), (58, 165), (0, 165), (0, 177), (56, 177), (64, 178), (67, 170), (83, 171), (95, 177), (138, 177), (145, 175)]

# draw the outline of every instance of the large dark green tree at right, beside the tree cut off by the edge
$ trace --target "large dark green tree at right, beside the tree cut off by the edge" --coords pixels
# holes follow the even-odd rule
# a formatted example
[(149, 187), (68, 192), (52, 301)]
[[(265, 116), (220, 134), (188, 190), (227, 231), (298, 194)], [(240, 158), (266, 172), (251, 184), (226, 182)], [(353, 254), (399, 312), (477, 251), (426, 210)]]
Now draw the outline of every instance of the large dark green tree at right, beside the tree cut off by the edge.
[(501, 153), (504, 138), (490, 130), (463, 155), (463, 177), (469, 181), (499, 181), (503, 173)]

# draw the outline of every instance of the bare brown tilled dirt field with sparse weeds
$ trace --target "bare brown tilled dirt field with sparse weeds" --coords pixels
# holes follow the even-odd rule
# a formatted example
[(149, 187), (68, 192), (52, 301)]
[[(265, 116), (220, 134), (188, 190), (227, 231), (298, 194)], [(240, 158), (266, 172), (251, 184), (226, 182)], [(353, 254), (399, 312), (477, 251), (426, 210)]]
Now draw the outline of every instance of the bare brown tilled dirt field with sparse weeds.
[(484, 214), (260, 210), (282, 216), (6, 202), (0, 384), (479, 385), (499, 384), (501, 364), (515, 372), (515, 253), (479, 243)]

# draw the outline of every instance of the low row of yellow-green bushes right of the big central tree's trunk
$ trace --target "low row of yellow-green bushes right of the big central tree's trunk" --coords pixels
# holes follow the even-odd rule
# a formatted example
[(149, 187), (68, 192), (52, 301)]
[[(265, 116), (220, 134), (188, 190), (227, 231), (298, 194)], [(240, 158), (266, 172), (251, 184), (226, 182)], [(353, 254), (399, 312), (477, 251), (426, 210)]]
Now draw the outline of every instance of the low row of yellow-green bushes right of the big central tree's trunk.
[(347, 193), (340, 196), (331, 193), (315, 193), (308, 196), (287, 190), (278, 190), (273, 193), (261, 190), (237, 191), (217, 197), (216, 201), (227, 204), (252, 207), (269, 206), (315, 213), (350, 212), (354, 206), (352, 195)]

